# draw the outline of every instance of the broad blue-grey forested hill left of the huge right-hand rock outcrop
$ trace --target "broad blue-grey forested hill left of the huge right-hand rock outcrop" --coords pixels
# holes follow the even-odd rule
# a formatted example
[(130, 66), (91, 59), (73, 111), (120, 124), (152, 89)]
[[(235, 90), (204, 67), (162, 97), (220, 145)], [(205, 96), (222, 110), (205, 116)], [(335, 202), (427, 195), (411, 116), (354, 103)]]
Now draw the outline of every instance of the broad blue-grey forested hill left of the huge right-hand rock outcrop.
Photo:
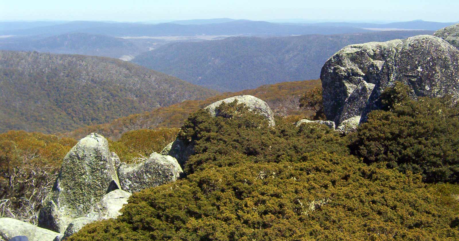
[(233, 37), (210, 42), (172, 43), (140, 54), (133, 62), (219, 91), (319, 78), (325, 61), (344, 46), (405, 39), (431, 31)]

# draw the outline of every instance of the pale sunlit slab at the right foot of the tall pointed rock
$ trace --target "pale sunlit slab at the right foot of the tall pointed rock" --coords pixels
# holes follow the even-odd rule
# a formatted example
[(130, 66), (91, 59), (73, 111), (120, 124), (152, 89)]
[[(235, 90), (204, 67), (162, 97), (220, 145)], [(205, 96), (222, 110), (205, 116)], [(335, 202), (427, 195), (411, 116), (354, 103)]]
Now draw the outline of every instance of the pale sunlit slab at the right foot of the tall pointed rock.
[(119, 210), (123, 207), (124, 204), (128, 203), (128, 199), (131, 195), (132, 194), (130, 192), (123, 191), (121, 189), (107, 193), (102, 198), (101, 202), (98, 202), (92, 212), (87, 214), (86, 217), (73, 219), (72, 222), (68, 224), (61, 240), (66, 240), (68, 237), (82, 229), (86, 224), (90, 224), (92, 222), (100, 221), (103, 219), (112, 219), (118, 217), (121, 215)]

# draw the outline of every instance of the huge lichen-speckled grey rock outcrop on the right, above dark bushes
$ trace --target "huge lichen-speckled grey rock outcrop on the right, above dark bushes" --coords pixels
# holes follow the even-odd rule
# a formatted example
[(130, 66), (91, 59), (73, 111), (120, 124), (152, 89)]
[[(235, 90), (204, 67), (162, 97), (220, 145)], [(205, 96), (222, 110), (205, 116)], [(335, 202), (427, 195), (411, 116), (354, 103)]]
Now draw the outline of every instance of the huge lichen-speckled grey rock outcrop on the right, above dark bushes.
[(339, 125), (380, 109), (381, 91), (400, 81), (412, 95), (459, 98), (459, 50), (444, 39), (418, 35), (384, 43), (349, 45), (325, 63), (324, 112)]

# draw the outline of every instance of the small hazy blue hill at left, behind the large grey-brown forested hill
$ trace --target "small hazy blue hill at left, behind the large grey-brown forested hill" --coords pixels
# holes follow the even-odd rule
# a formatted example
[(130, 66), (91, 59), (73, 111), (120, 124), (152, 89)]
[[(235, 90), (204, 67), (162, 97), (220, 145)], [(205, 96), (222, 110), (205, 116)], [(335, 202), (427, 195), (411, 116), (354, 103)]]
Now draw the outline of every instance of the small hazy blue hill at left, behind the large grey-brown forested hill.
[(39, 51), (119, 58), (148, 50), (132, 41), (100, 34), (72, 33), (41, 39), (16, 38), (0, 42), (0, 50)]

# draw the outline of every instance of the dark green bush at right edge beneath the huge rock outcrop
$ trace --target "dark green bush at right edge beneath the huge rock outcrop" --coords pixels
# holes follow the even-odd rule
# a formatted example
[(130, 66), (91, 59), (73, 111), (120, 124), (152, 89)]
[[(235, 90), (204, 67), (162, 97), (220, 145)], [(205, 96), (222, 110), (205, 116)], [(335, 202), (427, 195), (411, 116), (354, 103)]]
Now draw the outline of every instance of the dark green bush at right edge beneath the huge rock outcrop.
[[(420, 173), (426, 182), (459, 181), (459, 108), (448, 97), (411, 100), (396, 84), (381, 95), (387, 110), (369, 113), (351, 149), (366, 163)], [(451, 107), (452, 106), (452, 107)]]

